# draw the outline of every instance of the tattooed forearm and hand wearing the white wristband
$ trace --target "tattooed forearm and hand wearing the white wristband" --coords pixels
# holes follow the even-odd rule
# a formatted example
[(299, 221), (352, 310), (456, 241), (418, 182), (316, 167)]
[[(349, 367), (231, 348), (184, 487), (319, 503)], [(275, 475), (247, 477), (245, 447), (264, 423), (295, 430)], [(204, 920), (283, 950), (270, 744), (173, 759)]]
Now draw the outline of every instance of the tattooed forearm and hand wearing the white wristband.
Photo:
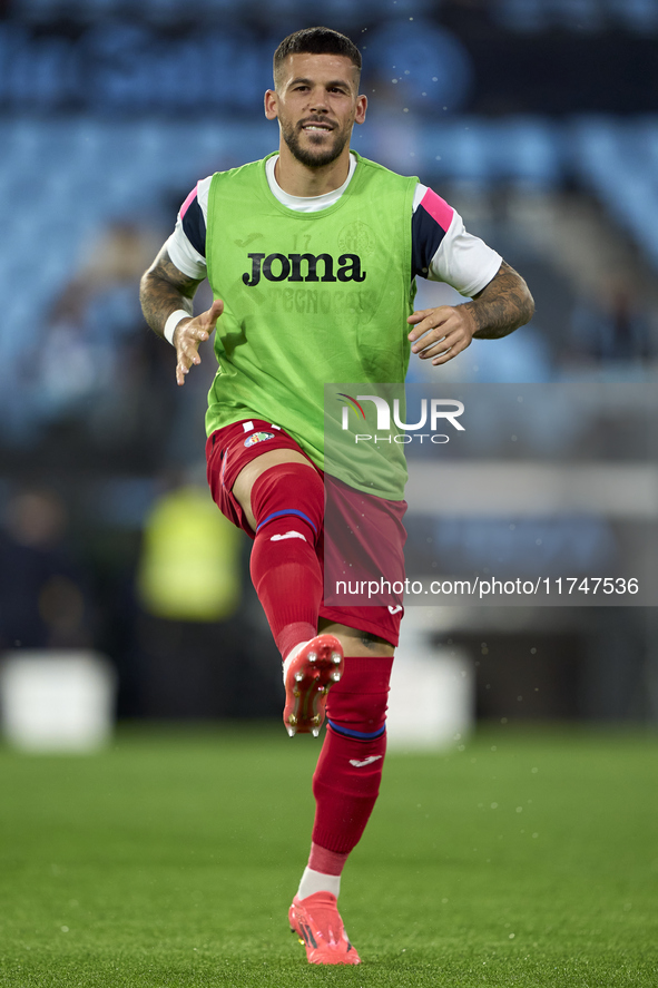
[(144, 317), (158, 336), (164, 336), (165, 324), (174, 312), (189, 314), (180, 316), (173, 336), (178, 384), (185, 384), (185, 375), (190, 366), (202, 362), (198, 355), (199, 343), (209, 338), (224, 310), (224, 303), (217, 299), (206, 312), (193, 316), (191, 300), (200, 283), (179, 271), (171, 263), (166, 247), (163, 247), (139, 286)]

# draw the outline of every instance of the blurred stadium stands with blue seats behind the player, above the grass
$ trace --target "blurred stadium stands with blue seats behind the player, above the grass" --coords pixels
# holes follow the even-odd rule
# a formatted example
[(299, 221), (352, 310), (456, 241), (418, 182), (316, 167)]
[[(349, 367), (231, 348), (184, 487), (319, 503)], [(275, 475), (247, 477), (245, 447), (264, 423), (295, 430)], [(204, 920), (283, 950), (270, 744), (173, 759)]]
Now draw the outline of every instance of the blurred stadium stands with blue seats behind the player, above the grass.
[[(107, 656), (120, 718), (278, 717), (248, 545), (203, 487), (213, 356), (177, 389), (137, 284), (198, 178), (275, 147), (262, 94), (307, 7), (0, 11), (0, 650)], [(363, 49), (355, 148), (432, 185), (534, 294), (529, 327), (474, 344), (440, 380), (600, 385), (585, 433), (559, 423), (568, 459), (602, 443), (655, 469), (641, 389), (626, 385), (658, 368), (658, 0), (316, 0), (312, 19)], [(429, 379), (414, 366), (410, 380)], [(631, 397), (611, 413), (616, 385)], [(531, 417), (528, 456), (550, 434)], [(487, 454), (503, 456), (495, 438)], [(477, 511), (421, 522), (446, 554), (475, 540), (500, 556)], [(564, 575), (632, 540), (596, 512), (544, 529)], [(523, 548), (507, 548), (513, 568)], [(458, 647), (469, 664), (478, 720), (658, 717), (655, 608), (451, 606), (422, 632), (425, 652)]]

